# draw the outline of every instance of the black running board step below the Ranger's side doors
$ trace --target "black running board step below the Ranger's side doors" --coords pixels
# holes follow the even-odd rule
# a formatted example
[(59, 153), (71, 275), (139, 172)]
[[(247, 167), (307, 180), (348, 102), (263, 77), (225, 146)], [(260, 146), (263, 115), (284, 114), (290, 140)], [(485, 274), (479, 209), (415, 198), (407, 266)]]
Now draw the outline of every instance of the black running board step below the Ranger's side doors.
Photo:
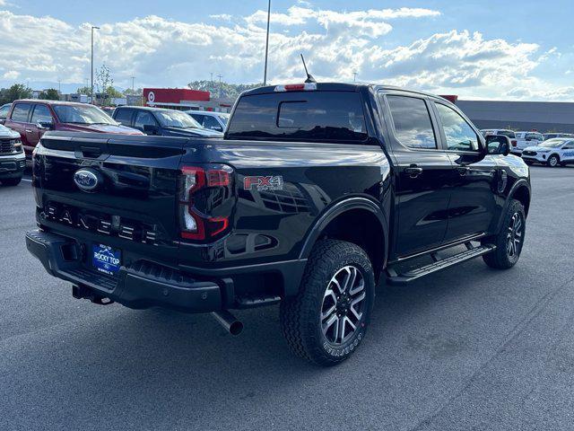
[(406, 285), (418, 278), (428, 276), (429, 274), (440, 271), (441, 269), (454, 267), (459, 263), (478, 258), (479, 256), (488, 254), (496, 249), (496, 246), (493, 244), (484, 244), (478, 247), (473, 247), (470, 242), (467, 242), (465, 245), (467, 248), (466, 251), (445, 259), (439, 259), (436, 253), (432, 253), (431, 258), (434, 260), (434, 262), (421, 268), (411, 269), (410, 271), (406, 271), (403, 274), (398, 273), (392, 267), (387, 268), (387, 282), (391, 285)]

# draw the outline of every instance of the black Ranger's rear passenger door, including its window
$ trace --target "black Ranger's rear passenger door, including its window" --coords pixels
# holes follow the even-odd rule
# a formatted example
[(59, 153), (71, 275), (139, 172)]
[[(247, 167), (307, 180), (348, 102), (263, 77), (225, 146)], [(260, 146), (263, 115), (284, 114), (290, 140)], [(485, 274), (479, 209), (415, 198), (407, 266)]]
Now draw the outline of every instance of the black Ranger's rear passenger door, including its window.
[[(448, 224), (452, 163), (439, 145), (430, 101), (387, 93), (390, 152), (395, 159), (396, 220), (393, 258), (439, 246)], [(389, 145), (387, 145), (388, 147)]]

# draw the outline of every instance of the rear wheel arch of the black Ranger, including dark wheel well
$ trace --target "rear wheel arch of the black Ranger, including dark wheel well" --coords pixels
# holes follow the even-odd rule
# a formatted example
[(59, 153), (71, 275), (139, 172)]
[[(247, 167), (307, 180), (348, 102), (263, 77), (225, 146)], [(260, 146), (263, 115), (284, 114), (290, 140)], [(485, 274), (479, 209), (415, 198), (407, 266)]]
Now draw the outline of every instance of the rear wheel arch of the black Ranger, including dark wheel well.
[[(349, 225), (354, 228), (347, 229)], [(370, 198), (346, 198), (328, 207), (309, 229), (300, 251), (300, 259), (309, 258), (315, 243), (323, 238), (353, 242), (361, 246), (369, 254), (377, 278), (387, 264), (387, 216)]]

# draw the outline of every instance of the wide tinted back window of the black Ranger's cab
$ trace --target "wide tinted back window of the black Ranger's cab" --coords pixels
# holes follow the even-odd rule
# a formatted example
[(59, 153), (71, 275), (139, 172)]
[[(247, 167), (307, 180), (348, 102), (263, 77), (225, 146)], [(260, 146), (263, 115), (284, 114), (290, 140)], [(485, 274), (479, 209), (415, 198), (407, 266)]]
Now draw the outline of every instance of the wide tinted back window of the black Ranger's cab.
[(358, 92), (279, 92), (243, 96), (228, 136), (359, 144), (367, 140)]

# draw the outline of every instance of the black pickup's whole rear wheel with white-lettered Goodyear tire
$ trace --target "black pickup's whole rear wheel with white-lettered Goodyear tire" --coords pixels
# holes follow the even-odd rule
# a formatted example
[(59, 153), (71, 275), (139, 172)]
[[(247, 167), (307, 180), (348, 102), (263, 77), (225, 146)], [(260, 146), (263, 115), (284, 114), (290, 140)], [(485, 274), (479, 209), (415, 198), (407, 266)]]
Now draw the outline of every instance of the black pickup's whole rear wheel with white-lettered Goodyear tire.
[(367, 253), (351, 242), (317, 242), (299, 294), (281, 303), (283, 335), (291, 351), (317, 365), (344, 361), (365, 337), (374, 299)]

